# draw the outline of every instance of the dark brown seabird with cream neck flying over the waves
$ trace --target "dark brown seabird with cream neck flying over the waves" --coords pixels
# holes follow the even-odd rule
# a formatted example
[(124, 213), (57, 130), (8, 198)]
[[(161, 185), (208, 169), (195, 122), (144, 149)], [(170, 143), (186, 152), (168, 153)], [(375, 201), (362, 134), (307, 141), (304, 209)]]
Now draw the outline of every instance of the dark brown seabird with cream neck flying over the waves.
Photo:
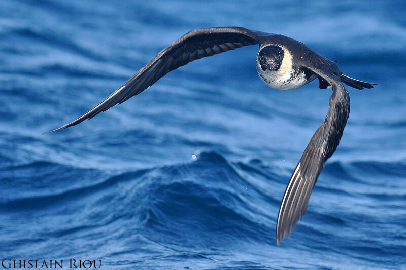
[(320, 88), (332, 89), (327, 116), (304, 150), (285, 190), (276, 227), (276, 241), (279, 245), (286, 234), (291, 234), (299, 218), (306, 212), (317, 177), (325, 161), (339, 145), (350, 112), (350, 98), (343, 83), (356, 89), (374, 87), (371, 83), (344, 75), (336, 61), (328, 60), (301, 42), (280, 34), (242, 27), (192, 30), (158, 53), (103, 102), (78, 119), (46, 133), (90, 119), (140, 94), (168, 72), (196, 59), (254, 44), (259, 45), (257, 71), (268, 86), (290, 90), (317, 78)]

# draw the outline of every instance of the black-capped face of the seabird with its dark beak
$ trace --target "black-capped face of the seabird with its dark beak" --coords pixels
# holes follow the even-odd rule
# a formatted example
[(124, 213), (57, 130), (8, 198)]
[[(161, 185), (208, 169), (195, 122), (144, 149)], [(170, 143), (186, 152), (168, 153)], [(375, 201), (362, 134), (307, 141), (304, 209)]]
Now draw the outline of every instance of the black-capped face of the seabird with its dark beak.
[(278, 71), (282, 65), (283, 55), (283, 49), (278, 46), (270, 45), (262, 48), (257, 56), (258, 71)]

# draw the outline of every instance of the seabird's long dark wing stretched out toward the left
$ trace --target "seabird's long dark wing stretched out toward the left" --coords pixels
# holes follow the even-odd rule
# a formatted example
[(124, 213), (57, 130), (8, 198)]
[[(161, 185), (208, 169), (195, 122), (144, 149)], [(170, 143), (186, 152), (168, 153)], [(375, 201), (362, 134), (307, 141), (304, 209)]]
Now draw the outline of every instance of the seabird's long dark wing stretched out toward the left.
[(243, 27), (215, 27), (192, 30), (170, 46), (163, 49), (148, 64), (141, 68), (125, 84), (113, 92), (103, 102), (83, 114), (78, 119), (57, 129), (77, 125), (96, 114), (140, 94), (168, 72), (206, 56), (212, 56), (247, 45), (258, 44), (258, 37), (269, 35)]

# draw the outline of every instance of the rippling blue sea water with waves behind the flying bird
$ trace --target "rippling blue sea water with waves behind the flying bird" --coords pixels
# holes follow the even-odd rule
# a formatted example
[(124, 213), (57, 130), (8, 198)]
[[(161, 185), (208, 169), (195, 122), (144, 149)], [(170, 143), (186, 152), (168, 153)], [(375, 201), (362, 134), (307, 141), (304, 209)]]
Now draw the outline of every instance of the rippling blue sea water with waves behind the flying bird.
[[(406, 269), (406, 5), (264, 2), (2, 0), (0, 258)], [(280, 200), (331, 90), (270, 89), (257, 46), (195, 61), (91, 121), (41, 135), (187, 31), (229, 25), (291, 36), (379, 84), (348, 89), (340, 146), (280, 247)]]

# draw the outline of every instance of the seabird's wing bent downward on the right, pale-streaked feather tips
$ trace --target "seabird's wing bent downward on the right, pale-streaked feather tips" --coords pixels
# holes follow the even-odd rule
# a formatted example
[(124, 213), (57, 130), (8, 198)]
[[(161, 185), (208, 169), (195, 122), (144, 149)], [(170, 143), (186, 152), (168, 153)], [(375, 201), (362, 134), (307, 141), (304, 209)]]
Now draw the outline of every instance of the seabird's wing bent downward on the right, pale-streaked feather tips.
[(299, 218), (306, 213), (317, 177), (324, 167), (324, 162), (331, 157), (339, 145), (350, 113), (350, 97), (340, 80), (338, 66), (322, 56), (317, 56), (318, 58), (313, 59), (317, 59), (318, 62), (307, 63), (305, 68), (325, 80), (331, 86), (333, 93), (329, 99), (327, 116), (304, 150), (286, 187), (276, 228), (278, 245), (286, 234), (291, 234)]

